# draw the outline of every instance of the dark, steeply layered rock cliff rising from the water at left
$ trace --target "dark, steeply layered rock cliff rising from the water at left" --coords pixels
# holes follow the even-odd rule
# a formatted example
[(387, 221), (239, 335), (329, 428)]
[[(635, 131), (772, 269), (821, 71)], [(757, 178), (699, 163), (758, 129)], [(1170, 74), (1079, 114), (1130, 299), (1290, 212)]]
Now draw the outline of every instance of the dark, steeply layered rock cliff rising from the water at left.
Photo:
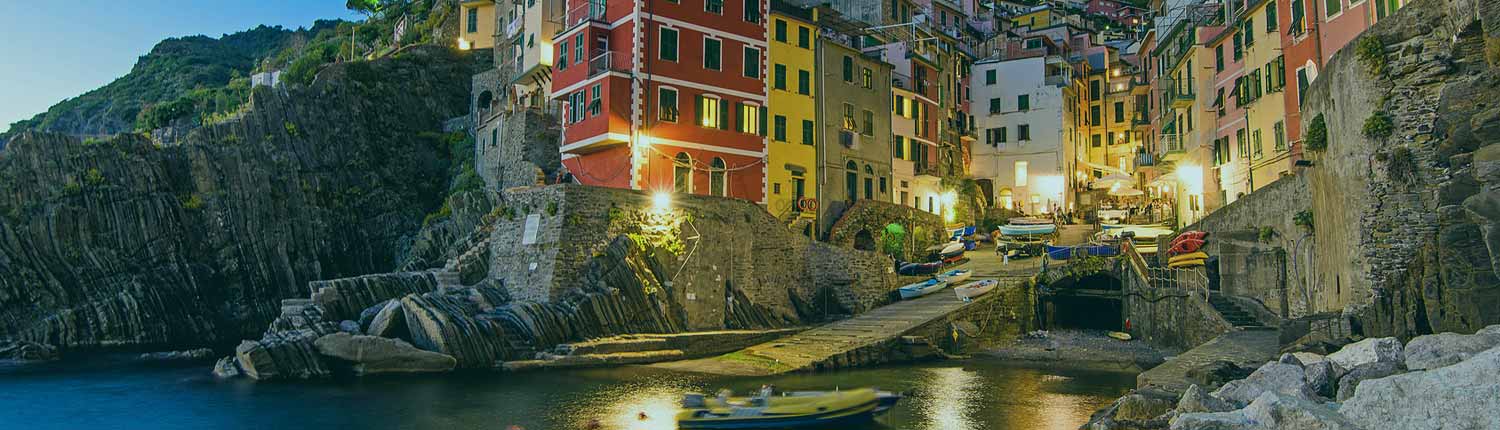
[(22, 133), (0, 151), (0, 339), (198, 346), (310, 280), (388, 271), (447, 195), (471, 58), (435, 46), (256, 88), (182, 145)]

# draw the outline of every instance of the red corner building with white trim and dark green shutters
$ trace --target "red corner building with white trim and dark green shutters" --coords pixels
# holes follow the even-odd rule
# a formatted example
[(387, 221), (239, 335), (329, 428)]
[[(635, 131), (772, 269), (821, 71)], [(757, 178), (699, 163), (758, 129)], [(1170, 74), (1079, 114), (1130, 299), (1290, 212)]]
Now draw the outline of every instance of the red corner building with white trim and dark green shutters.
[(765, 201), (766, 0), (568, 0), (552, 97), (580, 183)]

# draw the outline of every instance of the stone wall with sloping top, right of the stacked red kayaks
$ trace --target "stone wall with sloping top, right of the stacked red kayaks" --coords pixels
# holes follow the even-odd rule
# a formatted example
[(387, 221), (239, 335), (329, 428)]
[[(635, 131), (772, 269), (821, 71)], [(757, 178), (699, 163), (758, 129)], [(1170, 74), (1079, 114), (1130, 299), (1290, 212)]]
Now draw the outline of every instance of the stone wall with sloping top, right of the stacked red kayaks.
[[(1294, 216), (1311, 210), (1306, 175), (1276, 180), (1210, 213), (1184, 231), (1209, 232), (1203, 252), (1220, 262), (1220, 289), (1258, 301), (1278, 318), (1340, 310), (1308, 280), (1308, 265), (1322, 253), (1312, 231)], [(1322, 298), (1322, 300), (1320, 300)]]

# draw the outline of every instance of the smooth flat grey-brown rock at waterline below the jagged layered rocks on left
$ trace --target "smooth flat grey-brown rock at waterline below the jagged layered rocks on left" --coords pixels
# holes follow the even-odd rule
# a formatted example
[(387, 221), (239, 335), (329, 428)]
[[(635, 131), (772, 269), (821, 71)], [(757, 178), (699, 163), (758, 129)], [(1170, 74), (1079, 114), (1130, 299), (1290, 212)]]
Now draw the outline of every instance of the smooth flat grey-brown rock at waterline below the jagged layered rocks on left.
[(399, 339), (334, 333), (314, 342), (318, 352), (354, 363), (354, 373), (429, 373), (448, 372), (458, 364), (452, 355), (422, 351)]

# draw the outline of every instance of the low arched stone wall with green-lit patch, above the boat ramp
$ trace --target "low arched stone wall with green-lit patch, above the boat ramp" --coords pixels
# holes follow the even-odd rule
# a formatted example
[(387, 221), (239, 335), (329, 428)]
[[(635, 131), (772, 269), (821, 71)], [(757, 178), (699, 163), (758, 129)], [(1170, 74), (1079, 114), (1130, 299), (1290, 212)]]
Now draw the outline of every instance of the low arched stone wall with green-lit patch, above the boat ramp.
[(828, 243), (885, 252), (885, 226), (891, 223), (906, 231), (900, 238), (892, 238), (902, 244), (902, 252), (897, 255), (902, 261), (926, 261), (928, 246), (948, 240), (948, 231), (936, 214), (885, 201), (862, 199), (834, 222), (828, 231)]

